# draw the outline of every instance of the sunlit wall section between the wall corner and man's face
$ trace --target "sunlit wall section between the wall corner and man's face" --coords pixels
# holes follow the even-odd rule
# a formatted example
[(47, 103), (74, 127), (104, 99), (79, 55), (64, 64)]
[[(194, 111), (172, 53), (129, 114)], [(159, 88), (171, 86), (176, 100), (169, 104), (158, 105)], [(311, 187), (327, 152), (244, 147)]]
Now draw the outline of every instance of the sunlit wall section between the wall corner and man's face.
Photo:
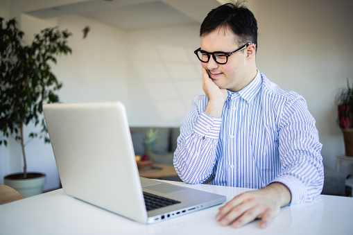
[(191, 99), (203, 94), (198, 25), (128, 34), (130, 125), (180, 126)]

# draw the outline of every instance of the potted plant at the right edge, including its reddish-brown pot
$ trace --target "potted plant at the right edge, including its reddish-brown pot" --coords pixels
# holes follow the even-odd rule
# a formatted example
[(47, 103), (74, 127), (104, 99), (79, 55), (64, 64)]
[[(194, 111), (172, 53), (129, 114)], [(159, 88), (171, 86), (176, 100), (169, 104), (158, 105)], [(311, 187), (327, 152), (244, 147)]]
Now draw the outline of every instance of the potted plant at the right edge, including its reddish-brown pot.
[(345, 141), (345, 155), (353, 157), (353, 84), (347, 78), (347, 87), (343, 87), (336, 96), (338, 104), (338, 123)]

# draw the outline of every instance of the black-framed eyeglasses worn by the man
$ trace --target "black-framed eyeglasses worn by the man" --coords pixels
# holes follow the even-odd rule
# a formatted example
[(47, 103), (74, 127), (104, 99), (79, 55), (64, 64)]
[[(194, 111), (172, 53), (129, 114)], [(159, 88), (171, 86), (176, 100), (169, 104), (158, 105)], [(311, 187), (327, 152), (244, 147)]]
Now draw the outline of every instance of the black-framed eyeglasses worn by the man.
[(233, 55), (234, 53), (237, 53), (238, 51), (246, 49), (250, 44), (254, 44), (256, 46), (255, 43), (248, 42), (247, 44), (239, 47), (239, 49), (236, 49), (235, 51), (233, 51), (231, 53), (227, 53), (224, 51), (208, 52), (208, 51), (201, 50), (201, 48), (193, 51), (193, 53), (195, 53), (195, 55), (198, 57), (198, 60), (200, 60), (200, 62), (204, 62), (204, 63), (209, 62), (209, 58), (211, 58), (211, 55), (212, 55), (212, 58), (214, 58), (214, 61), (217, 64), (226, 64), (228, 62), (228, 57), (230, 57), (230, 55)]

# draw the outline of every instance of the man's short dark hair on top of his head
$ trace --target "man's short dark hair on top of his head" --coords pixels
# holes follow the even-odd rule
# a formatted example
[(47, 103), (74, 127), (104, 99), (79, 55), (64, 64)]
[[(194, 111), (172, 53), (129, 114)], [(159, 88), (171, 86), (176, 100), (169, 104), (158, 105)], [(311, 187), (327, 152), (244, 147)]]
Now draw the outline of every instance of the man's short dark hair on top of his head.
[(225, 3), (211, 10), (200, 27), (200, 37), (212, 33), (217, 28), (230, 30), (238, 36), (238, 44), (257, 44), (257, 20), (242, 2)]

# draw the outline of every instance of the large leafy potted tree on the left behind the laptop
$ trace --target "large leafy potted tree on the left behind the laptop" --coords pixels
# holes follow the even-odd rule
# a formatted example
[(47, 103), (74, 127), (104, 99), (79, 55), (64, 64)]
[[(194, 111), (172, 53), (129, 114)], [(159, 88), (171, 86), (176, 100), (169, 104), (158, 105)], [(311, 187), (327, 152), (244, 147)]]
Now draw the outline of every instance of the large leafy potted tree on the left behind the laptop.
[[(7, 146), (7, 139), (14, 137), (21, 146), (24, 163), (23, 172), (7, 175), (4, 183), (11, 184), (9, 186), (26, 197), (38, 194), (37, 190), (18, 189), (18, 182), (32, 184), (31, 187), (32, 178), (39, 181), (38, 184), (44, 185), (45, 182), (44, 174), (27, 172), (25, 147), (36, 137), (49, 143), (42, 105), (59, 101), (55, 92), (62, 87), (62, 83), (51, 72), (51, 65), (56, 63), (58, 55), (71, 53), (67, 45), (71, 33), (59, 31), (58, 27), (45, 28), (35, 34), (32, 44), (25, 45), (24, 32), (18, 28), (15, 18), (3, 24), (0, 17), (0, 24), (0, 131), (3, 133), (0, 145)], [(31, 132), (29, 141), (25, 141), (24, 127), (29, 123), (34, 123), (36, 127), (40, 124), (41, 128), (38, 132)]]

